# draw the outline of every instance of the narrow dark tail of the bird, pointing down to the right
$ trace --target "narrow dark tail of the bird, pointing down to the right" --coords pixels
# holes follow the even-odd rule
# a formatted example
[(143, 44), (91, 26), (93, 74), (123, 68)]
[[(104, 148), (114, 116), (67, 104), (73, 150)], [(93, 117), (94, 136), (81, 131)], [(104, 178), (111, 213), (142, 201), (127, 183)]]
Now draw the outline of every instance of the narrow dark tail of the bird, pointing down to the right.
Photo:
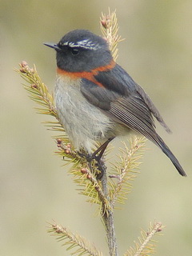
[(182, 166), (178, 162), (178, 159), (175, 158), (174, 154), (170, 151), (169, 147), (166, 146), (166, 143), (163, 142), (162, 138), (158, 136), (158, 146), (162, 149), (162, 151), (167, 155), (168, 158), (170, 158), (170, 161), (173, 162), (175, 168), (178, 170), (178, 173), (182, 176), (186, 176), (185, 171), (182, 169)]

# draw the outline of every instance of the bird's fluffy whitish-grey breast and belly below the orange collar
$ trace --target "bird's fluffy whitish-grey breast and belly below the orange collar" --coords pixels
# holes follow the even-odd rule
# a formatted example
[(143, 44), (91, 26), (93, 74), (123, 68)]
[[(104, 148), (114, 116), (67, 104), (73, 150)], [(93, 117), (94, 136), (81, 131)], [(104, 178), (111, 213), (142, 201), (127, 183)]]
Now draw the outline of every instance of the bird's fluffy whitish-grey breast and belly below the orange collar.
[(80, 91), (80, 82), (70, 78), (56, 80), (55, 101), (58, 116), (73, 146), (90, 151), (93, 141), (115, 136), (115, 123), (86, 101)]

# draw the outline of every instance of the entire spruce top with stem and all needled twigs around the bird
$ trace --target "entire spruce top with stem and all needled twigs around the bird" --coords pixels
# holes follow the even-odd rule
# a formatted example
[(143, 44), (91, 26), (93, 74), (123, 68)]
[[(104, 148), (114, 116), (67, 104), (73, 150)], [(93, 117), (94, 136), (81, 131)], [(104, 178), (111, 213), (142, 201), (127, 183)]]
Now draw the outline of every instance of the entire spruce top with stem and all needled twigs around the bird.
[[(115, 11), (111, 13), (109, 10), (109, 14), (102, 14), (101, 29), (115, 60), (118, 58), (118, 42), (122, 41), (122, 38), (118, 35), (118, 22)], [(73, 163), (70, 174), (72, 174), (74, 182), (78, 185), (79, 194), (86, 195), (87, 201), (98, 204), (102, 221), (106, 227), (110, 256), (118, 256), (114, 230), (114, 206), (116, 202), (123, 203), (126, 195), (130, 192), (131, 182), (136, 177), (135, 174), (138, 173), (138, 166), (140, 165), (138, 161), (142, 157), (143, 138), (134, 137), (130, 141), (130, 149), (123, 143), (124, 149), (120, 150), (119, 161), (114, 164), (110, 172), (110, 181), (107, 181), (106, 172), (102, 175), (102, 179), (99, 180), (97, 162), (87, 162), (87, 159), (76, 152), (70, 144), (65, 127), (62, 126), (58, 118), (53, 94), (49, 92), (38, 76), (35, 66), (31, 69), (26, 62), (22, 62), (20, 69), (16, 71), (26, 81), (24, 88), (29, 93), (30, 98), (38, 103), (38, 108), (36, 108), (38, 114), (50, 115), (56, 119), (51, 122), (44, 122), (48, 130), (60, 133), (59, 136), (54, 136), (58, 146), (56, 154), (61, 156), (66, 164)], [(147, 234), (142, 231), (142, 238), (138, 239), (139, 242), (135, 242), (135, 246), (131, 247), (125, 256), (146, 255), (146, 252), (151, 254), (153, 246), (150, 246), (149, 242), (152, 241), (151, 238), (154, 234), (161, 230), (162, 227), (159, 225), (158, 223), (155, 224)], [(85, 238), (71, 233), (70, 230), (56, 223), (52, 225), (49, 232), (57, 236), (58, 241), (65, 241), (64, 245), (68, 246), (68, 250), (78, 247), (72, 254), (102, 256), (102, 253), (96, 250), (94, 245), (87, 242)]]

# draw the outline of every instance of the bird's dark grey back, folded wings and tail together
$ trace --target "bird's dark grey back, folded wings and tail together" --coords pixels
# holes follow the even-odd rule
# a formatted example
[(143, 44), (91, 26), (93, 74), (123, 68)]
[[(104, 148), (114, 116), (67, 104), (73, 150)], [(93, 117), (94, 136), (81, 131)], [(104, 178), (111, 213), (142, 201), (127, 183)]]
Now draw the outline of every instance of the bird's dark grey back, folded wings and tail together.
[[(102, 87), (83, 79), (82, 94), (91, 104), (97, 106), (111, 119), (149, 138), (170, 158), (179, 174), (186, 176), (178, 159), (155, 131), (153, 116), (164, 126), (167, 132), (170, 132), (170, 129), (166, 126), (149, 96), (124, 70), (120, 69), (115, 75), (113, 72), (114, 70), (102, 72), (102, 74), (95, 76), (98, 82), (102, 83)], [(102, 78), (99, 75), (102, 75)], [(122, 79), (123, 76), (126, 79)]]

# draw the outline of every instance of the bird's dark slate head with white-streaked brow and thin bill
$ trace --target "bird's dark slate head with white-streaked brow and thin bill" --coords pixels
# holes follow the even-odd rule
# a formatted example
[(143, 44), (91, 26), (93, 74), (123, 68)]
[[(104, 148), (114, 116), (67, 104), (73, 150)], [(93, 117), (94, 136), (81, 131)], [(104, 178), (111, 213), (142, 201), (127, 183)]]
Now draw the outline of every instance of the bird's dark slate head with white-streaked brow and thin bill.
[(113, 59), (106, 40), (89, 30), (72, 30), (58, 43), (45, 45), (56, 50), (58, 68), (68, 72), (89, 72)]

